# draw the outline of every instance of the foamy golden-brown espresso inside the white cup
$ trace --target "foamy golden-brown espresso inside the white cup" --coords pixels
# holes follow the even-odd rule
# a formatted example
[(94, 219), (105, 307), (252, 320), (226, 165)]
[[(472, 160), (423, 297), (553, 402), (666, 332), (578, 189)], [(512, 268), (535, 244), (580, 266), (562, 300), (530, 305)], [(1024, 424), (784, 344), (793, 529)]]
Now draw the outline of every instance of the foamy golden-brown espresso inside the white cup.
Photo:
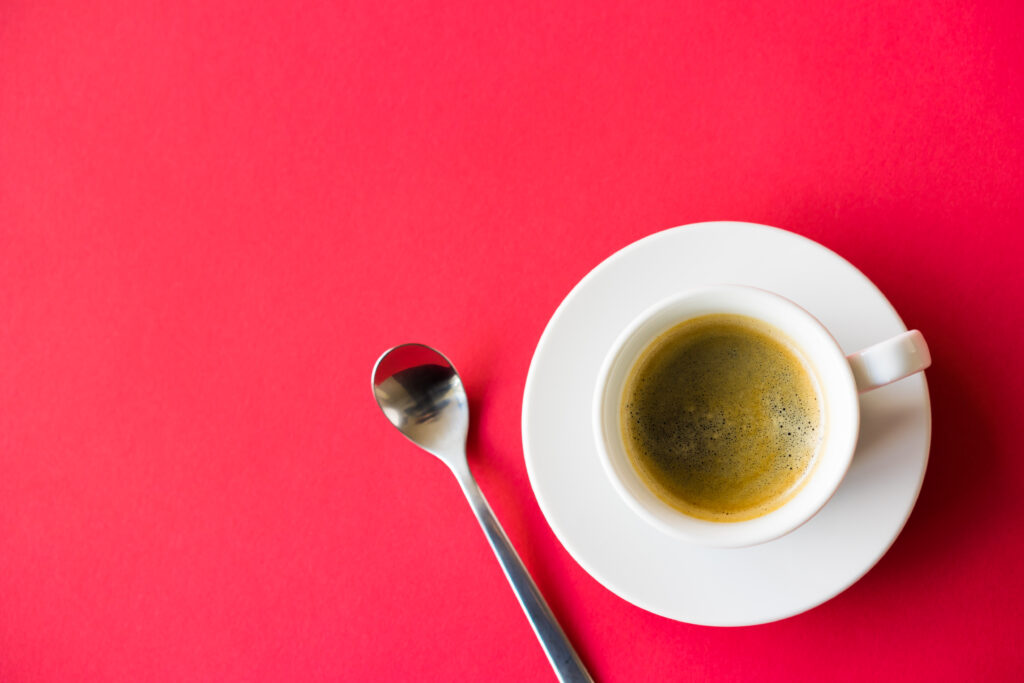
[(712, 521), (780, 507), (822, 438), (811, 372), (780, 332), (743, 315), (697, 317), (651, 342), (630, 371), (620, 420), (647, 486)]

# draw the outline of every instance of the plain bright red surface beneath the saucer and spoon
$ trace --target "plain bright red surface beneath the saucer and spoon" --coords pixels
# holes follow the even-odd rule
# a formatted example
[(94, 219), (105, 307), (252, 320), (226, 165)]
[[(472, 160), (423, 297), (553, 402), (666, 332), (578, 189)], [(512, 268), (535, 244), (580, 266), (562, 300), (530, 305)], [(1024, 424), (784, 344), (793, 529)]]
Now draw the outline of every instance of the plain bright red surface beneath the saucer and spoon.
[[(0, 679), (549, 680), (371, 397), (413, 340), (597, 678), (1020, 673), (1020, 3), (139, 4), (0, 5)], [(838, 251), (935, 356), (903, 535), (743, 629), (584, 572), (519, 434), (575, 282), (722, 218)]]

